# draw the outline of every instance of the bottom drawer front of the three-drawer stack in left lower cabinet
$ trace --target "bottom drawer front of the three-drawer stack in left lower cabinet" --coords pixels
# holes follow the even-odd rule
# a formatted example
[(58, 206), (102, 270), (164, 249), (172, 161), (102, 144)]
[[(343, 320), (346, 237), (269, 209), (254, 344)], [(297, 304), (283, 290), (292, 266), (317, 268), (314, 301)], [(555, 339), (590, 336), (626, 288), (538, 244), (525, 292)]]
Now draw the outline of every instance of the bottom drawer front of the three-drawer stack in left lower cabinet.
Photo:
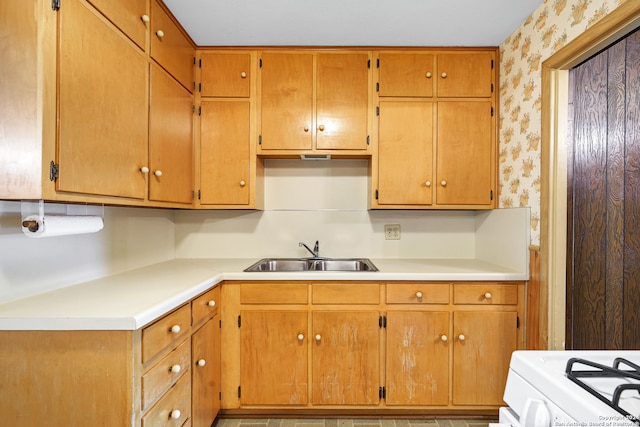
[(191, 416), (191, 375), (183, 375), (142, 417), (142, 427), (182, 426)]

